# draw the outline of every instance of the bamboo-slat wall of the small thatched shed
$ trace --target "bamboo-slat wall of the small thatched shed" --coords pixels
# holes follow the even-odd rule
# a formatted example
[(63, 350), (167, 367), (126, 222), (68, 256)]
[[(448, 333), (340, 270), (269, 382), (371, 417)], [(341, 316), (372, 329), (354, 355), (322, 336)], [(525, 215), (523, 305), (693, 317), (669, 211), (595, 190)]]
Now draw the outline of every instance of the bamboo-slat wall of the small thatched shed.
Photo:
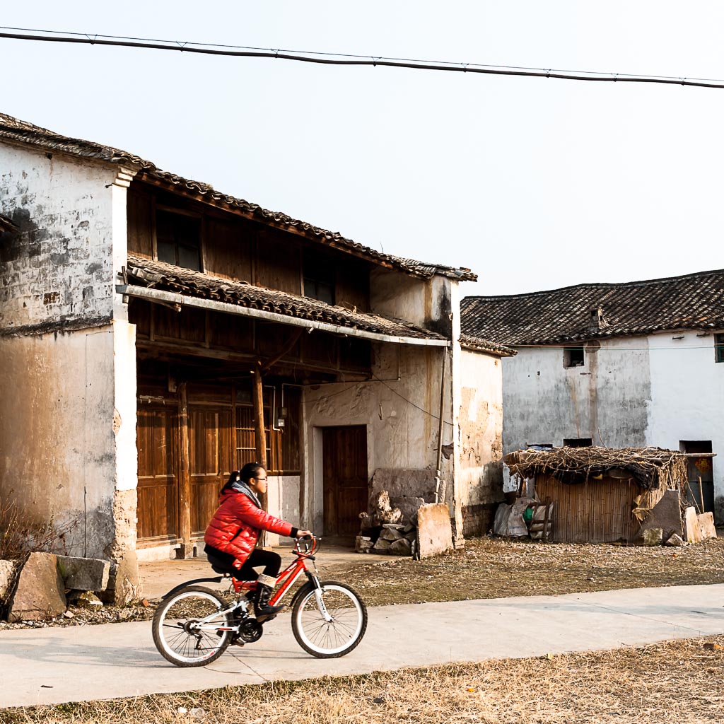
[(653, 508), (664, 488), (643, 490), (633, 480), (604, 477), (567, 485), (552, 476), (536, 476), (540, 500), (553, 501), (551, 540), (560, 543), (633, 542), (641, 523), (631, 512), (634, 498), (639, 508)]

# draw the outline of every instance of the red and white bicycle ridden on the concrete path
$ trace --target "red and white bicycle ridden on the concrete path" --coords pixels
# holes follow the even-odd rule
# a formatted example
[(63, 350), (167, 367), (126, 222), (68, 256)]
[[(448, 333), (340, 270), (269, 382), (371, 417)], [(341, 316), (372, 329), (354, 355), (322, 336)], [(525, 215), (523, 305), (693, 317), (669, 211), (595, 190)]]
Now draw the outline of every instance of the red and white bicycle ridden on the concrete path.
[[(277, 576), (277, 590), (269, 605), (277, 605), (302, 573), (307, 581), (292, 599), (292, 632), (306, 652), (321, 659), (348, 654), (358, 646), (367, 630), (367, 608), (359, 594), (340, 581), (320, 581), (314, 554), (321, 539), (298, 539), (295, 560)], [(303, 545), (303, 548), (302, 548)], [(311, 561), (313, 571), (309, 570)], [(263, 623), (253, 615), (248, 596), (256, 592), (256, 581), (240, 581), (230, 571), (212, 565), (216, 578), (195, 578), (170, 590), (153, 616), (153, 643), (161, 656), (177, 666), (204, 666), (216, 661), (232, 644), (258, 641), (264, 633)], [(224, 601), (219, 592), (203, 582), (220, 583), (230, 579)]]

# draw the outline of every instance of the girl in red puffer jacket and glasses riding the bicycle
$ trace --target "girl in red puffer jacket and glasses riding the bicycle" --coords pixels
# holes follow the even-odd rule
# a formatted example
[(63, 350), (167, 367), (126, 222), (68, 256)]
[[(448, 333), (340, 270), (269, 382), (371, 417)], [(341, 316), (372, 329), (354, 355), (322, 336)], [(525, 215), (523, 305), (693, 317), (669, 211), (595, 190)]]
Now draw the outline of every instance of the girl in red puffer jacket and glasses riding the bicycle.
[(259, 533), (269, 531), (291, 538), (311, 536), (287, 521), (274, 518), (261, 508), (258, 495), (266, 493), (266, 470), (257, 463), (247, 463), (240, 471), (231, 473), (219, 495), (219, 508), (211, 518), (203, 539), (209, 563), (219, 573), (231, 573), (235, 578), (256, 578), (258, 597), (254, 601), (256, 619), (261, 622), (277, 615), (284, 606), (270, 606), (269, 598), (277, 583), (282, 557), (271, 550), (256, 547)]

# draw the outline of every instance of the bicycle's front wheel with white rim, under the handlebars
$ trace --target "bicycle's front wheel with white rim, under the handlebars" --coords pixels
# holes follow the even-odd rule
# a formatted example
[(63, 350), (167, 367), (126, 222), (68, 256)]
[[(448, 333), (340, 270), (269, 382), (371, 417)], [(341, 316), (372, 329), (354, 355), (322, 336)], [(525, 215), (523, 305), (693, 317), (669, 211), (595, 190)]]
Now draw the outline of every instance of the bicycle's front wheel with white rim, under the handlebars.
[(367, 607), (351, 586), (339, 581), (321, 581), (319, 606), (317, 589), (301, 594), (292, 608), (292, 631), (306, 652), (320, 659), (348, 654), (367, 630)]

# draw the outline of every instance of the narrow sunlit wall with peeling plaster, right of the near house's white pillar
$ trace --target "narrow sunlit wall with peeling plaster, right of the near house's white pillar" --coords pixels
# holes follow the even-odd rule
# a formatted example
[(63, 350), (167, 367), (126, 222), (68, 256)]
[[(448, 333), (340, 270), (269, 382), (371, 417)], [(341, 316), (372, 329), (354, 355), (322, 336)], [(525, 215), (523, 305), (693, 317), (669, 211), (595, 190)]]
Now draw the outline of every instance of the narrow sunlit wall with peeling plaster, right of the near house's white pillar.
[(502, 496), (502, 364), (469, 350), (460, 354), (460, 458), (463, 532), (480, 535), (492, 524)]

